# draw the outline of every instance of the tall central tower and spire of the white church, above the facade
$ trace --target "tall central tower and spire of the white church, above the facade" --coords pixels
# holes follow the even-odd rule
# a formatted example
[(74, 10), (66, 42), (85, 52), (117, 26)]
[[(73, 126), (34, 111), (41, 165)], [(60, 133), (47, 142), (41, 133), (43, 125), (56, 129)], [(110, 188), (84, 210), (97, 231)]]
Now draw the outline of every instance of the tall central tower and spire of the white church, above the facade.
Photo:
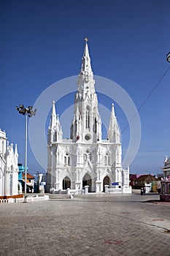
[(74, 118), (70, 132), (74, 142), (96, 143), (101, 140), (101, 116), (98, 113), (98, 99), (94, 84), (88, 39), (85, 38), (85, 50), (74, 98)]

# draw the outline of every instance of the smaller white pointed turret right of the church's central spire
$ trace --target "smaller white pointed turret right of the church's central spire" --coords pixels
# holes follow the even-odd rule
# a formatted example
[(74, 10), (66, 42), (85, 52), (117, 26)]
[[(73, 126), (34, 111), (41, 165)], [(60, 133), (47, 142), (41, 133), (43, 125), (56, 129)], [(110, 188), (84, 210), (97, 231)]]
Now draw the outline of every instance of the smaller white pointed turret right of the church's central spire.
[(119, 125), (117, 124), (117, 118), (115, 116), (115, 108), (113, 103), (112, 103), (112, 111), (111, 111), (111, 116), (109, 121), (108, 139), (109, 139), (109, 142), (120, 143), (120, 128), (119, 128)]

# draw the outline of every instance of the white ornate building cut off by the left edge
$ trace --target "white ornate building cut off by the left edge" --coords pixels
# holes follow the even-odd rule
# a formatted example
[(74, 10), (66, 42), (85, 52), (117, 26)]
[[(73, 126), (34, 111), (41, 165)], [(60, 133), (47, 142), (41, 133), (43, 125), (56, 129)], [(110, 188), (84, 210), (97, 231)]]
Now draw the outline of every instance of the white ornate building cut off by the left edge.
[(18, 148), (0, 129), (0, 196), (18, 195)]

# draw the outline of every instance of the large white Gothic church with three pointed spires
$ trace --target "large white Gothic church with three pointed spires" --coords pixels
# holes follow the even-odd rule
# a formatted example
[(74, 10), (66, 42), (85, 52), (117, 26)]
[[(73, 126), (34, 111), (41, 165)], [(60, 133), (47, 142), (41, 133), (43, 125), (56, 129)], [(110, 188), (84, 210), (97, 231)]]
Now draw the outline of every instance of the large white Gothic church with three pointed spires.
[(106, 192), (107, 187), (110, 192), (131, 192), (129, 169), (122, 167), (120, 128), (114, 104), (111, 108), (108, 137), (103, 140), (88, 39), (85, 39), (70, 139), (63, 139), (53, 102), (47, 131), (47, 191), (88, 187), (88, 192)]

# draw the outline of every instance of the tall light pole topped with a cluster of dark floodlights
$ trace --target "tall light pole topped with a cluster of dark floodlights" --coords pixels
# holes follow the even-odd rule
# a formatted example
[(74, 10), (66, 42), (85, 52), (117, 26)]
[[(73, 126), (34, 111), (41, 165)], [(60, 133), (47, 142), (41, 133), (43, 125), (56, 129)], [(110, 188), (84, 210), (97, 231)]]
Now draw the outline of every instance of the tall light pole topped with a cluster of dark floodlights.
[(36, 115), (36, 109), (33, 110), (32, 106), (28, 106), (28, 108), (24, 108), (23, 105), (19, 105), (19, 107), (15, 107), (16, 110), (23, 116), (26, 116), (26, 127), (25, 127), (25, 190), (24, 190), (24, 203), (26, 203), (26, 179), (27, 179), (27, 137), (28, 137), (28, 117), (32, 117)]

